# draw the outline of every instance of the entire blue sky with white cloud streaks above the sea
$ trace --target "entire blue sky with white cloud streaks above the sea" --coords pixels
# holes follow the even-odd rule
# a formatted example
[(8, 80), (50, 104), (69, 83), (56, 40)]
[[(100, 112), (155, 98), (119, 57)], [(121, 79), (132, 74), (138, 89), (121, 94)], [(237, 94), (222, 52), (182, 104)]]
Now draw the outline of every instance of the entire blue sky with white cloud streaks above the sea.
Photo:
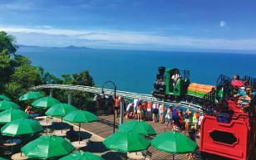
[(0, 0), (27, 46), (256, 51), (254, 0)]

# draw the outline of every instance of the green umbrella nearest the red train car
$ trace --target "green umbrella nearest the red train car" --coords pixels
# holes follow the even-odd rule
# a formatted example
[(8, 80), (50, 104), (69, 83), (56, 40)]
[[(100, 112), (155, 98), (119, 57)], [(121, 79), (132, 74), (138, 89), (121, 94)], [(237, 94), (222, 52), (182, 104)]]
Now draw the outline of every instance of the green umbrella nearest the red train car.
[(165, 153), (192, 153), (197, 148), (197, 144), (185, 134), (175, 132), (160, 133), (151, 144)]

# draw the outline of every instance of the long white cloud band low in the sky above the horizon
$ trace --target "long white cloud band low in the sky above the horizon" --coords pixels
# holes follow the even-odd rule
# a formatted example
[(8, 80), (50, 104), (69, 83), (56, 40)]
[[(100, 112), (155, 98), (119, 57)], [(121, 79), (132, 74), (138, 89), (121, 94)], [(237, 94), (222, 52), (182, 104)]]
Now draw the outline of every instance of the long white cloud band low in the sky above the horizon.
[(52, 27), (0, 27), (0, 30), (17, 36), (17, 43), (32, 46), (91, 46), (125, 47), (134, 49), (192, 48), (209, 50), (253, 50), (256, 38), (252, 39), (205, 39), (194, 36), (159, 36), (155, 32), (121, 32), (113, 30), (69, 30)]

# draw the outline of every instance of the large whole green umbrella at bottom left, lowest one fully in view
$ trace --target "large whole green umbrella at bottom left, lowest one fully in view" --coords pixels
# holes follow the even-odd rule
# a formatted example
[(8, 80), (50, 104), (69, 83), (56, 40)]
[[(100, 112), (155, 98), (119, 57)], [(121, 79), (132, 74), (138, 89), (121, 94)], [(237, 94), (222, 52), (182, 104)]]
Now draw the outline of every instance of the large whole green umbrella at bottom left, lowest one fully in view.
[(75, 150), (65, 138), (57, 136), (41, 136), (22, 147), (22, 153), (27, 158), (47, 159), (58, 158)]

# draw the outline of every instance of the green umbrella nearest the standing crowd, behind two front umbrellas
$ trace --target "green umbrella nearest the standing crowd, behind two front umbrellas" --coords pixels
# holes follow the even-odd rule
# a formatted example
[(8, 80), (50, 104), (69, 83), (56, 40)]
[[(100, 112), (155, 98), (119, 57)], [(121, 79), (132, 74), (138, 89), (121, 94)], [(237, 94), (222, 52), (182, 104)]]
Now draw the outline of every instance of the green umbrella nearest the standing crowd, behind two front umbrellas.
[(147, 122), (139, 122), (137, 120), (132, 120), (121, 124), (119, 126), (120, 131), (130, 131), (133, 133), (138, 133), (140, 135), (155, 135), (155, 129)]

